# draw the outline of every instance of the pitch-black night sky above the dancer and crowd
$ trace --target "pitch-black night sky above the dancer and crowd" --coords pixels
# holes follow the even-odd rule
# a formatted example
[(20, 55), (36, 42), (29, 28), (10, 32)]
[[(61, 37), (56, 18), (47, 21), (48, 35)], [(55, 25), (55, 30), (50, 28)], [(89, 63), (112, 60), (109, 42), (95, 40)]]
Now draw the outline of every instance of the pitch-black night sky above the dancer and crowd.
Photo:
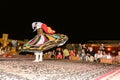
[(8, 2), (1, 5), (0, 34), (9, 38), (31, 39), (32, 22), (41, 21), (57, 33), (68, 35), (69, 42), (120, 39), (119, 10), (113, 4), (78, 2)]

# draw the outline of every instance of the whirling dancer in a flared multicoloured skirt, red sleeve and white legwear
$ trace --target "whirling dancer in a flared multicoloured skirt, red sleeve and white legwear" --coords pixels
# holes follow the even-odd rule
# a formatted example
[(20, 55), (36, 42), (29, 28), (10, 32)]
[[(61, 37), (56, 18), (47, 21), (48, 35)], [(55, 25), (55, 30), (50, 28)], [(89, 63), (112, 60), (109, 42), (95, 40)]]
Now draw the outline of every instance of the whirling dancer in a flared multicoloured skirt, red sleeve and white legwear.
[(36, 58), (34, 62), (42, 61), (43, 51), (55, 46), (62, 46), (68, 40), (64, 34), (55, 34), (55, 31), (41, 22), (33, 22), (32, 29), (37, 31), (37, 35), (23, 46), (23, 51), (34, 52)]

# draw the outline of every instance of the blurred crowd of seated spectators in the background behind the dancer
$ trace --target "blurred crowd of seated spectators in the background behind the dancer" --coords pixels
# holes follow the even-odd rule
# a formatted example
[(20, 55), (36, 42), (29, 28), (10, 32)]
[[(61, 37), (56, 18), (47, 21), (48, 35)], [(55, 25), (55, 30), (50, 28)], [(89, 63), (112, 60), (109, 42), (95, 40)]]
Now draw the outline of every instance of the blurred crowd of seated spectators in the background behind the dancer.
[[(0, 55), (5, 53), (16, 54), (22, 45), (13, 46), (9, 44), (6, 47), (0, 46)], [(49, 58), (66, 59), (66, 60), (80, 60), (84, 62), (105, 62), (107, 60), (111, 63), (120, 63), (120, 51), (117, 50), (117, 55), (112, 55), (106, 52), (104, 44), (101, 44), (97, 50), (93, 46), (86, 46), (86, 44), (66, 44), (62, 47), (55, 47), (51, 50), (44, 52)]]

